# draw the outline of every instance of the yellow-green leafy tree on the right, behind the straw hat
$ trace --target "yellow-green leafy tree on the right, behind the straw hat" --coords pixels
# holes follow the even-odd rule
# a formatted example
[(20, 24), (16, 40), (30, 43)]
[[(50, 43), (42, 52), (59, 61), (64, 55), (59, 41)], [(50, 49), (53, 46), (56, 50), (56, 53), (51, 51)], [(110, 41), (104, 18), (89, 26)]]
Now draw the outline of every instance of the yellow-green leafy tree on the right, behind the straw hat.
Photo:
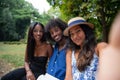
[[(62, 19), (68, 21), (72, 17), (82, 16), (92, 21), (97, 35), (107, 41), (110, 25), (118, 10), (119, 0), (47, 0), (53, 7), (59, 7)], [(93, 20), (94, 18), (94, 20)], [(101, 28), (101, 29), (99, 29)], [(100, 34), (101, 33), (101, 34)]]

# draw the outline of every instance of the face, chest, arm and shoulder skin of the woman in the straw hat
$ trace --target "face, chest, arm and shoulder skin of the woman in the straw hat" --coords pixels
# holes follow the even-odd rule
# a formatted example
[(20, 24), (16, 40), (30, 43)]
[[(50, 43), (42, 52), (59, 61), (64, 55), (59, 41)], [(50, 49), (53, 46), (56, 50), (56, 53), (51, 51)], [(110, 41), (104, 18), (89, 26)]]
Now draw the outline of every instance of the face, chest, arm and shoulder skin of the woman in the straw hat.
[[(76, 45), (82, 47), (84, 41), (85, 41), (85, 33), (82, 30), (82, 28), (80, 26), (74, 26), (72, 28), (69, 29), (70, 32), (70, 38), (73, 41), (73, 43), (75, 43)], [(101, 42), (99, 44), (97, 44), (96, 48), (95, 48), (95, 52), (98, 53), (97, 55), (99, 56), (99, 52), (105, 48), (107, 46), (106, 43)], [(76, 50), (75, 51), (75, 58), (77, 60), (78, 55), (80, 53), (80, 50)], [(66, 77), (65, 80), (72, 80), (72, 64), (71, 64), (71, 59), (72, 57), (72, 50), (68, 49), (67, 53), (66, 53)]]

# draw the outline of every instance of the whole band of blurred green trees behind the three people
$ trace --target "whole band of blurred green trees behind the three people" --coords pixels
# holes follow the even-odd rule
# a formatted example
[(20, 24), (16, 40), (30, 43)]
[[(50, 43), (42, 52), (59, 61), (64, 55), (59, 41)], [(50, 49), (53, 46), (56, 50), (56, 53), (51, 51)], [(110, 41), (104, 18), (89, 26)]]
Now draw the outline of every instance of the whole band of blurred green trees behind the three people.
[(68, 21), (82, 16), (95, 25), (98, 41), (108, 39), (110, 25), (120, 10), (120, 0), (47, 0), (51, 8), (39, 13), (25, 0), (0, 0), (0, 41), (26, 41), (32, 21), (46, 25), (50, 18)]

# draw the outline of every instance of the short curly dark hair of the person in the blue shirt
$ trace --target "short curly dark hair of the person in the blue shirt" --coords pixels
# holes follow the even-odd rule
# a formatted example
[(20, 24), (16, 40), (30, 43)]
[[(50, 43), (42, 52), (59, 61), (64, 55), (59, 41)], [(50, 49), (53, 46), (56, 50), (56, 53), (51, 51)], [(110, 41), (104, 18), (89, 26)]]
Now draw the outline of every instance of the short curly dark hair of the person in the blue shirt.
[(46, 30), (46, 34), (47, 34), (47, 40), (50, 42), (54, 42), (54, 40), (52, 39), (51, 35), (50, 35), (50, 29), (53, 27), (59, 27), (62, 32), (65, 30), (65, 28), (67, 27), (67, 23), (62, 21), (59, 18), (53, 18), (50, 19), (49, 22), (46, 24), (45, 30)]

